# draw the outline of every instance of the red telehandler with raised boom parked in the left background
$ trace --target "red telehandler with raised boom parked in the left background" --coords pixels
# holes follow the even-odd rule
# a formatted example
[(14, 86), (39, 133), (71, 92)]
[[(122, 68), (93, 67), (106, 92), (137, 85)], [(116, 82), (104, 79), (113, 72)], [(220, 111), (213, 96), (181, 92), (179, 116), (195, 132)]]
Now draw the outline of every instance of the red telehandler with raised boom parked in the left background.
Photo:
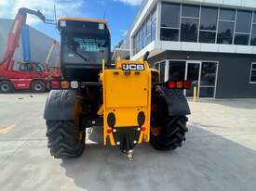
[[(20, 8), (7, 37), (7, 47), (4, 54), (4, 61), (0, 63), (0, 91), (9, 93), (18, 89), (31, 89), (36, 93), (45, 92), (49, 81), (53, 77), (51, 72), (47, 71), (47, 67), (42, 70), (13, 70), (15, 60), (13, 56), (16, 48), (19, 47), (20, 33), (23, 25), (26, 23), (27, 15), (32, 14), (46, 23), (50, 23), (48, 19), (38, 10), (34, 11), (28, 8)], [(32, 67), (39, 69), (40, 63), (26, 63)], [(43, 65), (42, 65), (43, 66)]]

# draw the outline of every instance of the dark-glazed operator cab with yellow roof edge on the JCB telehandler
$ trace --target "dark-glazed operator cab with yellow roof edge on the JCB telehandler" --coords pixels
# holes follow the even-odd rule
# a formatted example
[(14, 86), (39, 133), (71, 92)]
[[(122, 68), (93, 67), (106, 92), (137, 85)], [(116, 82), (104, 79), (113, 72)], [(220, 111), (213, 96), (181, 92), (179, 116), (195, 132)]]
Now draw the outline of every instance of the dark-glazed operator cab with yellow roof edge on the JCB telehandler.
[(61, 18), (61, 70), (65, 79), (98, 82), (101, 61), (110, 63), (111, 40), (103, 19)]

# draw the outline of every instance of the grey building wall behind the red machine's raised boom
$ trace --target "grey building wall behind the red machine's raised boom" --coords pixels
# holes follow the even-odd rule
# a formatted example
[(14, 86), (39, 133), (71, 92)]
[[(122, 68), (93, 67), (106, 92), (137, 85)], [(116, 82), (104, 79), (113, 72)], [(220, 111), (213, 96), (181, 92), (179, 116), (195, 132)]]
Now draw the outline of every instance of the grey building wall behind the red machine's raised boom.
[[(12, 19), (0, 19), (0, 61), (3, 59), (5, 47), (7, 45), (7, 34), (12, 25)], [(42, 32), (38, 32), (32, 27), (28, 27), (29, 31), (29, 41), (30, 41), (30, 54), (31, 61), (45, 63), (48, 51), (52, 45), (54, 39), (47, 36)], [(49, 60), (49, 66), (57, 66), (59, 60), (60, 51), (58, 48), (54, 48), (54, 51)], [(16, 49), (14, 59), (17, 62), (23, 62), (23, 49), (22, 49), (22, 35), (20, 35), (19, 48)], [(17, 66), (15, 67), (15, 69)]]

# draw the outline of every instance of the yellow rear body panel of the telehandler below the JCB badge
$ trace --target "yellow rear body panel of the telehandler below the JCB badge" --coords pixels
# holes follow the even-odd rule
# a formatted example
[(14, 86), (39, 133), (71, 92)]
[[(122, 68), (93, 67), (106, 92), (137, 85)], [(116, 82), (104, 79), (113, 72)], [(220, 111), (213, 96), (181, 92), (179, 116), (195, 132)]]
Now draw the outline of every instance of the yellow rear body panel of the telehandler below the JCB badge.
[[(130, 70), (124, 70), (127, 68)], [(137, 70), (137, 68), (139, 70)], [(149, 142), (151, 110), (151, 70), (147, 62), (117, 60), (114, 69), (101, 72), (103, 91), (103, 128), (104, 145), (109, 140), (115, 146), (113, 128), (108, 124), (108, 115), (115, 114), (115, 128), (141, 129), (138, 143)], [(138, 114), (144, 113), (144, 122), (140, 126)]]

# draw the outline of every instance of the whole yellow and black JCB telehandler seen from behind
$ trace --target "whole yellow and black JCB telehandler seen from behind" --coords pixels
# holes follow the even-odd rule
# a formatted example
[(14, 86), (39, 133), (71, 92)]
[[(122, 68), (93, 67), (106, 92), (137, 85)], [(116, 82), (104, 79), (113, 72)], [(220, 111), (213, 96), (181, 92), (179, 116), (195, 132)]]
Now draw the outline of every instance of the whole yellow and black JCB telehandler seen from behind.
[(110, 64), (110, 32), (101, 19), (61, 18), (61, 71), (52, 81), (44, 118), (50, 154), (78, 157), (88, 127), (103, 128), (104, 145), (118, 146), (132, 159), (133, 148), (182, 146), (190, 109), (183, 89), (189, 82), (159, 82), (158, 70), (143, 60)]

